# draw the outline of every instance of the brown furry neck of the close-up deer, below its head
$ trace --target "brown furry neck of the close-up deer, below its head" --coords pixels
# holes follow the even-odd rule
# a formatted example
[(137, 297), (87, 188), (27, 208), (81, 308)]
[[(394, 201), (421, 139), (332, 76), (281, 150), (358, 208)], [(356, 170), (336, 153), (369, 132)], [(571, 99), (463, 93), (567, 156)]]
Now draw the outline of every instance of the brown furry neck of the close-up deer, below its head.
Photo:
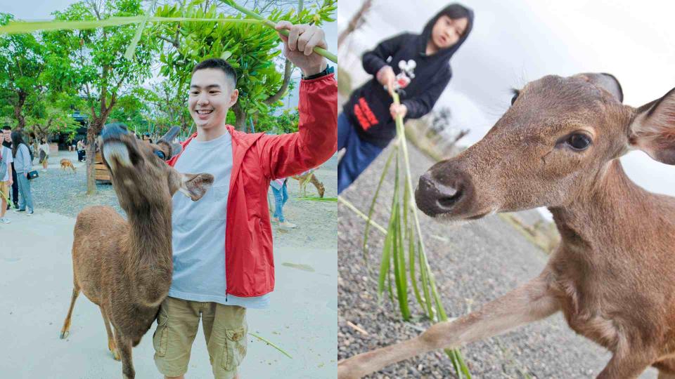
[(593, 183), (570, 204), (548, 208), (561, 245), (583, 253), (629, 246), (631, 235), (641, 229), (634, 224), (646, 220), (651, 194), (628, 178), (619, 159), (610, 161)]

